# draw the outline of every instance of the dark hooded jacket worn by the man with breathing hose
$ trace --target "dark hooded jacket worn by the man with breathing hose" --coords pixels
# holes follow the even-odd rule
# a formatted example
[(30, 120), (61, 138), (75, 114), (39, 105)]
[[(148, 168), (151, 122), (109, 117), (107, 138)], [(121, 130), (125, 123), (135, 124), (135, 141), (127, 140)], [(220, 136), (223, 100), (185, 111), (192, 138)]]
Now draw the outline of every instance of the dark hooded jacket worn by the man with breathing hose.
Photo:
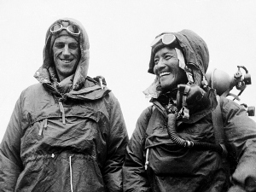
[[(186, 65), (195, 66), (192, 67), (196, 70), (193, 74), (202, 77), (209, 61), (207, 44), (189, 30), (173, 34), (182, 48)], [(195, 83), (201, 84), (199, 81)], [(199, 143), (216, 142), (212, 111), (217, 100), (214, 91), (210, 91), (209, 96), (212, 102), (203, 112), (191, 114), (189, 120), (178, 122), (176, 131), (179, 137)], [(256, 167), (256, 125), (244, 108), (220, 97), (226, 143), (230, 146), (229, 153), (238, 161), (231, 175), (230, 161), (217, 152), (183, 148), (173, 143), (167, 133), (165, 115), (157, 106), (159, 102), (157, 99), (151, 101), (154, 105), (146, 108), (137, 119), (126, 148), (124, 191), (256, 191), (253, 168)]]

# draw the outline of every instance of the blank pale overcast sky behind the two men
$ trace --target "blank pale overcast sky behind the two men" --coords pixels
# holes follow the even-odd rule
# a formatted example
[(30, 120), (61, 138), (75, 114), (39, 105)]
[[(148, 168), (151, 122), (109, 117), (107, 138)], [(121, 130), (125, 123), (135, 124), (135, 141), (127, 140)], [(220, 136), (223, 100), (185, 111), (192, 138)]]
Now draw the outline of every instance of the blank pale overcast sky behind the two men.
[(106, 78), (130, 136), (150, 105), (143, 90), (154, 80), (147, 73), (150, 43), (160, 32), (186, 28), (198, 33), (207, 42), (211, 68), (232, 76), (236, 66), (247, 67), (253, 84), (241, 102), (255, 106), (255, 13), (253, 0), (0, 0), (0, 140), (20, 92), (37, 83), (33, 74), (43, 63), (45, 33), (61, 17), (84, 24), (90, 40), (89, 76)]

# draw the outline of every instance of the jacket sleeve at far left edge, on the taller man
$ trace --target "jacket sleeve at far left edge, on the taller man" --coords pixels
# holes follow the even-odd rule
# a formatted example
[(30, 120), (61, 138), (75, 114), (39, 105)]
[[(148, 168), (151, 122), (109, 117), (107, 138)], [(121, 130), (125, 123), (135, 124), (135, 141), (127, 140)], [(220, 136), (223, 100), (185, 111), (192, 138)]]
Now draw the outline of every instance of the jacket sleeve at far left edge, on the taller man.
[(0, 145), (0, 191), (15, 191), (17, 178), (22, 170), (20, 160), (21, 109), (16, 102), (9, 125)]

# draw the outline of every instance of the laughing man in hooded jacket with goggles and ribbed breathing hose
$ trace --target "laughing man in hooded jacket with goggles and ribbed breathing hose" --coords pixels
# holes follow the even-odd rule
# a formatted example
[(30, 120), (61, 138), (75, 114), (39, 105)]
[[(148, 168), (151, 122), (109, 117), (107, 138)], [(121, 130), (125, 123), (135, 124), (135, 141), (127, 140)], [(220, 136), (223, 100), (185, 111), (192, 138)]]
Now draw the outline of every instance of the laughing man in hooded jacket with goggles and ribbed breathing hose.
[(207, 84), (205, 41), (190, 30), (164, 32), (151, 47), (148, 73), (156, 77), (143, 92), (152, 105), (126, 148), (124, 191), (256, 191), (255, 122)]

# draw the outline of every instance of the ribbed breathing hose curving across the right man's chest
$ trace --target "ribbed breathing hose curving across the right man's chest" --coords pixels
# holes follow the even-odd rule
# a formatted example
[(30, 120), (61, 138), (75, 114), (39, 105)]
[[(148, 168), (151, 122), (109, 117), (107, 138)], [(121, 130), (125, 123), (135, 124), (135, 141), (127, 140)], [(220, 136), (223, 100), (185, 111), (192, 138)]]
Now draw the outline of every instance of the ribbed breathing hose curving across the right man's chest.
[(219, 154), (223, 153), (223, 148), (218, 144), (205, 143), (205, 142), (193, 142), (189, 140), (185, 140), (177, 135), (176, 131), (176, 115), (175, 113), (168, 114), (168, 123), (167, 123), (167, 132), (172, 142), (177, 144), (178, 146), (184, 148), (195, 148), (197, 150), (213, 150), (218, 152)]

